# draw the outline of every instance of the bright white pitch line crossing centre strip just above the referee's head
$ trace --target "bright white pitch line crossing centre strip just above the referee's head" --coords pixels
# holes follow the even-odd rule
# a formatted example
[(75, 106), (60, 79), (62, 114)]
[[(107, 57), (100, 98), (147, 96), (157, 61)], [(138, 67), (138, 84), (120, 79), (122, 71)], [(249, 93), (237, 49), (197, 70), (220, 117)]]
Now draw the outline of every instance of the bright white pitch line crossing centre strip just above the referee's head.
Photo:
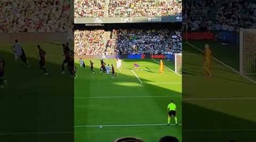
[(165, 98), (165, 97), (182, 97), (181, 95), (162, 95), (162, 96), (116, 96), (116, 97), (75, 97), (75, 99), (90, 99), (90, 98)]

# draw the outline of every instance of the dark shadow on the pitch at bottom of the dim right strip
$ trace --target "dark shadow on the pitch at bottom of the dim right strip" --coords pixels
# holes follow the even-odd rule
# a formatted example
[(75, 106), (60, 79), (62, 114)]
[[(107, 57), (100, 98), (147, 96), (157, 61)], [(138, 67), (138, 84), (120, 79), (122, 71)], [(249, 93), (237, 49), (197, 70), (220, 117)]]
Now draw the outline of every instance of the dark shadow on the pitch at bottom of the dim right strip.
[[(189, 102), (184, 100), (182, 103), (184, 142), (255, 141), (255, 122), (242, 119), (243, 115), (236, 117), (195, 105), (198, 102), (204, 103), (206, 101)], [(235, 102), (241, 102), (241, 100), (234, 101), (234, 103)], [(210, 106), (214, 104), (219, 106), (219, 101), (207, 101), (207, 103), (210, 104)], [(223, 104), (223, 108), (233, 107), (233, 112), (237, 111), (236, 105), (233, 103), (229, 102)], [(249, 105), (250, 104), (243, 106), (243, 108), (250, 110)]]

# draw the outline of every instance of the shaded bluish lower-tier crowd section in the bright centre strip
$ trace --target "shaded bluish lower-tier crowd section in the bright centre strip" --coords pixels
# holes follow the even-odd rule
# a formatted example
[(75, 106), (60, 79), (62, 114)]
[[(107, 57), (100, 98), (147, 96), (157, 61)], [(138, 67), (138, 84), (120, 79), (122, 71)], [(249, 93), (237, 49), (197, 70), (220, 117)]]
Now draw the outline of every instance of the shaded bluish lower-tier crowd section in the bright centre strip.
[[(174, 51), (170, 44), (174, 33), (160, 30), (118, 30), (117, 52), (119, 54), (166, 54)], [(176, 37), (175, 40), (181, 37)], [(168, 43), (168, 44), (167, 44)], [(171, 42), (172, 43), (172, 42)], [(175, 42), (176, 43), (176, 42)]]

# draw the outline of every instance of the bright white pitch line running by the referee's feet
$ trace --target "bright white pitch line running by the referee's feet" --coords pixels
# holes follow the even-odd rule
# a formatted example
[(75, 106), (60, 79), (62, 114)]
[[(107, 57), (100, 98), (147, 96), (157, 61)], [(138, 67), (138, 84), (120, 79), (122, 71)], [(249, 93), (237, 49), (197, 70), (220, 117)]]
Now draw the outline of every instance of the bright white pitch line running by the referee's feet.
[[(176, 124), (170, 124), (174, 126)], [(182, 124), (177, 124), (181, 126)], [(130, 124), (130, 125), (83, 125), (83, 126), (74, 126), (74, 127), (129, 127), (129, 126), (167, 126), (167, 124)]]

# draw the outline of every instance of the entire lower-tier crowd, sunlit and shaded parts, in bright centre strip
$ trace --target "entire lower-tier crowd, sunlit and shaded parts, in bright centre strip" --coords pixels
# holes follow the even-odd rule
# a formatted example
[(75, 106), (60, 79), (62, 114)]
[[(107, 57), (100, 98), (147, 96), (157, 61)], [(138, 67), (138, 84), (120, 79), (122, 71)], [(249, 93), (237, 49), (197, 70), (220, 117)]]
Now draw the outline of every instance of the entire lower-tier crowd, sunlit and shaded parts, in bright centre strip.
[[(76, 55), (174, 54), (181, 53), (181, 32), (169, 29), (120, 29), (111, 31), (104, 42), (104, 30), (76, 30)], [(106, 40), (106, 39), (105, 39)], [(106, 43), (106, 44), (104, 44)]]

